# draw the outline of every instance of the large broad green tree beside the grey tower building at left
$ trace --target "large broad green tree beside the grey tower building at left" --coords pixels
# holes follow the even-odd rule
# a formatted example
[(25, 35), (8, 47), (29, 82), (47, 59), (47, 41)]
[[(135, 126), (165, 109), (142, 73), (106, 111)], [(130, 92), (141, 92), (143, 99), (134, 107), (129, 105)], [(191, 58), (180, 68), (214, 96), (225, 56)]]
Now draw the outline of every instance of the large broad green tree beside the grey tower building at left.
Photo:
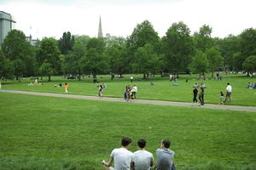
[[(26, 41), (22, 31), (9, 31), (2, 44), (3, 55), (14, 62), (15, 77), (18, 80), (21, 76), (34, 74), (34, 54), (32, 46)], [(19, 65), (20, 64), (20, 65)]]

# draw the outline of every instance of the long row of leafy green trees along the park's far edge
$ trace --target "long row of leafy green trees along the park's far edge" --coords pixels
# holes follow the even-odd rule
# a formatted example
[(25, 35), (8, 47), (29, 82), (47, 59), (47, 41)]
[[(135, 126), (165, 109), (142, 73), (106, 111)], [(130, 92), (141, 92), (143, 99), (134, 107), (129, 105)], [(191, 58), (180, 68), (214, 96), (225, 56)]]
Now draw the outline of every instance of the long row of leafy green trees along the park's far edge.
[(173, 23), (159, 37), (148, 20), (138, 24), (129, 37), (73, 36), (60, 40), (46, 37), (32, 46), (22, 31), (10, 31), (0, 51), (0, 77), (43, 77), (162, 72), (178, 74), (211, 71), (256, 71), (256, 29), (238, 36), (212, 38), (204, 25), (191, 34), (183, 22)]

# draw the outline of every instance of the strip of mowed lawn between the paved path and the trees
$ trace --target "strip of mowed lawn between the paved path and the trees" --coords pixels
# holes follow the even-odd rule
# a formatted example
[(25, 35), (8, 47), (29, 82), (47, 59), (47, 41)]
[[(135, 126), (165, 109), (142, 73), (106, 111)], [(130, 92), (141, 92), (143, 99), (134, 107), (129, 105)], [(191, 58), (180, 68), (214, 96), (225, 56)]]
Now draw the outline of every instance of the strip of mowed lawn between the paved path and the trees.
[[(110, 76), (98, 76), (98, 81), (106, 83), (107, 88), (104, 88), (103, 94), (108, 97), (123, 98), (125, 86), (130, 84), (131, 87), (136, 84), (138, 88), (137, 99), (159, 99), (159, 100), (171, 100), (171, 101), (183, 101), (192, 102), (193, 99), (193, 86), (195, 83), (205, 83), (205, 103), (218, 104), (219, 93), (225, 89), (227, 82), (230, 82), (232, 86), (232, 98), (233, 101), (227, 102), (225, 105), (253, 105), (256, 106), (256, 89), (247, 89), (247, 82), (256, 82), (256, 77), (225, 75), (223, 81), (217, 81), (207, 76), (207, 80), (197, 80), (198, 75), (181, 75), (177, 82), (170, 82), (168, 77), (161, 78), (160, 76), (152, 77), (149, 80), (140, 81), (142, 75), (133, 75), (134, 81), (130, 82), (130, 75), (125, 75), (124, 78), (115, 78), (110, 80)], [(85, 78), (82, 81), (77, 80), (64, 80), (63, 77), (52, 77), (52, 82), (47, 82), (47, 77), (44, 77), (44, 85), (28, 86), (31, 81), (26, 78), (21, 82), (3, 82), (3, 89), (15, 89), (37, 92), (49, 92), (63, 94), (64, 88), (55, 88), (55, 84), (58, 85), (65, 82), (69, 84), (69, 94), (79, 95), (97, 95), (95, 83), (92, 83), (91, 78)], [(189, 82), (185, 82), (189, 79)], [(38, 81), (42, 82), (42, 81)], [(150, 85), (150, 82), (154, 83), (154, 86)], [(172, 86), (177, 84), (177, 86)]]

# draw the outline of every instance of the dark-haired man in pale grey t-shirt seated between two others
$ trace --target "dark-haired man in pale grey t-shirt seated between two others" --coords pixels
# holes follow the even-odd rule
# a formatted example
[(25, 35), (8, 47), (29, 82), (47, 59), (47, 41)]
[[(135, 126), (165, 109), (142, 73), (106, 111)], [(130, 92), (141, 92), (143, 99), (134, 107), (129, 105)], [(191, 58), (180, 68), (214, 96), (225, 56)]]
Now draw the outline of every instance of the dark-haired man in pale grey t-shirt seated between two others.
[(134, 170), (150, 170), (154, 165), (153, 155), (145, 150), (147, 142), (144, 139), (139, 139), (137, 141), (137, 146), (139, 150), (133, 153), (131, 165)]

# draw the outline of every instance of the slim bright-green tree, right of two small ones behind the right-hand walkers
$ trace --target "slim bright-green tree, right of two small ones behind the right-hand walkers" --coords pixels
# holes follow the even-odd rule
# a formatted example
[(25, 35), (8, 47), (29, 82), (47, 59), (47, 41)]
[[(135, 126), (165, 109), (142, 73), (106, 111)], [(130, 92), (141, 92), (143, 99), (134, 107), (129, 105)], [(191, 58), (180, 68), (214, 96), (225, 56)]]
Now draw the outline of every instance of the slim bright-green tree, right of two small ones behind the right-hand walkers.
[(223, 68), (224, 58), (221, 56), (221, 53), (219, 52), (219, 49), (217, 47), (207, 48), (206, 55), (210, 63), (209, 69), (212, 71), (213, 77), (214, 71)]

